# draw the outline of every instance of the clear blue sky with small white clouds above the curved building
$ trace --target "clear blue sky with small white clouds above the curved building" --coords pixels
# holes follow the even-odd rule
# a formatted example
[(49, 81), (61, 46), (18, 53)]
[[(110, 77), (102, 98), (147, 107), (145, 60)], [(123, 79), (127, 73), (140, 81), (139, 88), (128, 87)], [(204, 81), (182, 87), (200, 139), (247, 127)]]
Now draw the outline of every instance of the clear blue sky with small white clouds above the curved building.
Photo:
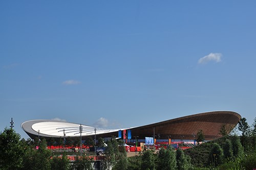
[(255, 1), (1, 1), (0, 130), (256, 117)]

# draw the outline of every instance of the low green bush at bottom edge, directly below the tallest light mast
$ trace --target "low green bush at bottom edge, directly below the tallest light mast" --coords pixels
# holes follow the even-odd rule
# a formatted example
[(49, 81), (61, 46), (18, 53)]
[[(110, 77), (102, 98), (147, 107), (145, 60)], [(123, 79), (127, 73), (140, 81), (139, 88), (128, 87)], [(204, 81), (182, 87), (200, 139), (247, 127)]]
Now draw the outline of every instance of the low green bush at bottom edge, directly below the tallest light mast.
[(79, 170), (93, 170), (92, 159), (86, 156), (76, 156), (75, 161), (72, 164), (72, 169)]

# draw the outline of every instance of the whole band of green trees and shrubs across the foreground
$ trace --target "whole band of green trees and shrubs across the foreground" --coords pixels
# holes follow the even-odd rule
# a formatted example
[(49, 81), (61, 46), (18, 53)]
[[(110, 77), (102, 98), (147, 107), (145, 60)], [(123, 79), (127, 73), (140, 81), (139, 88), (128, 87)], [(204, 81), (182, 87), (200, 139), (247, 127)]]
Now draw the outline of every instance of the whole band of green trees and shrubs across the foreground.
[[(256, 168), (256, 118), (249, 126), (246, 118), (242, 118), (230, 134), (229, 127), (220, 129), (222, 138), (197, 145), (188, 150), (173, 148), (144, 150), (134, 157), (127, 158), (122, 140), (112, 138), (106, 141), (105, 159), (101, 169), (248, 169)], [(241, 131), (239, 136), (238, 131)], [(203, 131), (198, 133), (198, 142), (204, 139)], [(61, 139), (62, 140), (62, 139)], [(61, 142), (59, 140), (59, 143)], [(100, 145), (103, 139), (98, 141)], [(74, 140), (75, 141), (75, 140)], [(90, 141), (90, 140), (88, 140)], [(38, 143), (39, 142), (39, 143)], [(55, 156), (55, 152), (47, 149), (47, 144), (58, 144), (57, 141), (45, 139), (20, 139), (12, 128), (6, 128), (0, 134), (0, 169), (94, 169), (90, 157), (76, 157), (70, 163), (65, 156)], [(77, 143), (73, 142), (73, 144)], [(90, 144), (93, 144), (91, 140)], [(88, 143), (89, 144), (89, 143)], [(39, 145), (35, 150), (35, 145)]]

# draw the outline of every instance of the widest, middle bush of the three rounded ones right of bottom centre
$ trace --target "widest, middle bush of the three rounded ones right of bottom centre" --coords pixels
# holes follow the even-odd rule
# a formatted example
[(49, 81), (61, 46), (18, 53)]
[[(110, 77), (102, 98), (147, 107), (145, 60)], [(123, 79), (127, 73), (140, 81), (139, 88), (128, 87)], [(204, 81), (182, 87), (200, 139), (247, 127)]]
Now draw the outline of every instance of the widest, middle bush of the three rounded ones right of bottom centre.
[[(184, 153), (183, 153), (184, 156)], [(176, 154), (170, 147), (167, 149), (161, 148), (158, 153), (157, 169), (175, 170), (176, 169)]]

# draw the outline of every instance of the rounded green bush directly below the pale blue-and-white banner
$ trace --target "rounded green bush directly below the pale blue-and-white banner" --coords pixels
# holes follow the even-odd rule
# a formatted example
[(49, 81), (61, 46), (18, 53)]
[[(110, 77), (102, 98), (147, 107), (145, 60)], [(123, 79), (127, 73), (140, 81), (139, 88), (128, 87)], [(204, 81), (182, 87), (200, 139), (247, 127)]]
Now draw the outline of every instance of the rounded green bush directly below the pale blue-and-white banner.
[(156, 169), (156, 155), (154, 150), (146, 150), (141, 156), (141, 169), (154, 170)]

